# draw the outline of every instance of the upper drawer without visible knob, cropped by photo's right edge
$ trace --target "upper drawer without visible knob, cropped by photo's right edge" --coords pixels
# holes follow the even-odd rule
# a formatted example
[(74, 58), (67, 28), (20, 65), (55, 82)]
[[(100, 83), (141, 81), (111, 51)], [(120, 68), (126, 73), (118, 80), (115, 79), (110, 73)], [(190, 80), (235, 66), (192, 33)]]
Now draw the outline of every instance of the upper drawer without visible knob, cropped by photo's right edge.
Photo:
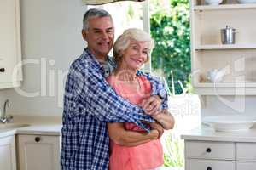
[(256, 161), (255, 143), (236, 143), (237, 161)]

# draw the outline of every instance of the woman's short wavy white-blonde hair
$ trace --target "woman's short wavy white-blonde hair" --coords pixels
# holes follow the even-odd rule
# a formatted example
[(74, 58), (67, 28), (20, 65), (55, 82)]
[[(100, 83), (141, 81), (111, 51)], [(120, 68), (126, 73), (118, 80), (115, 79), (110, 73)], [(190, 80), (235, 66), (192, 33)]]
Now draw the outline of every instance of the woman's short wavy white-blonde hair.
[(148, 61), (154, 48), (154, 40), (150, 37), (148, 32), (137, 28), (130, 28), (125, 30), (113, 44), (113, 59), (116, 63), (118, 63), (122, 58), (122, 52), (129, 47), (131, 40), (135, 40), (137, 42), (148, 42)]

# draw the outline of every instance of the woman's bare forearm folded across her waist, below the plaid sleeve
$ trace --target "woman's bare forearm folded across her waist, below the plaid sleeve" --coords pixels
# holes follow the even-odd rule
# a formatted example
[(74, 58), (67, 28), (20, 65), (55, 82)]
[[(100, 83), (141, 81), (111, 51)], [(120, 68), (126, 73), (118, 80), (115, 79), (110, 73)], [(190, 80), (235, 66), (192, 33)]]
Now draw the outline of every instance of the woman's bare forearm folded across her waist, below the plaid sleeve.
[(137, 146), (158, 139), (159, 132), (155, 129), (150, 133), (125, 130), (124, 123), (108, 123), (108, 136), (114, 143), (124, 146)]

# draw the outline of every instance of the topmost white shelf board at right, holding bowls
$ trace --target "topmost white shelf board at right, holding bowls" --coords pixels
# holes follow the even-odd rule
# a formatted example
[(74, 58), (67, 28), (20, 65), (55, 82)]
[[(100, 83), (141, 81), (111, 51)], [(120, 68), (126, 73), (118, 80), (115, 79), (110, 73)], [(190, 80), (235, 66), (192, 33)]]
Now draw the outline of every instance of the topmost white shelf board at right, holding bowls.
[(224, 5), (196, 5), (193, 9), (195, 11), (207, 11), (207, 10), (232, 10), (232, 9), (247, 9), (256, 8), (256, 3), (247, 4), (224, 4)]

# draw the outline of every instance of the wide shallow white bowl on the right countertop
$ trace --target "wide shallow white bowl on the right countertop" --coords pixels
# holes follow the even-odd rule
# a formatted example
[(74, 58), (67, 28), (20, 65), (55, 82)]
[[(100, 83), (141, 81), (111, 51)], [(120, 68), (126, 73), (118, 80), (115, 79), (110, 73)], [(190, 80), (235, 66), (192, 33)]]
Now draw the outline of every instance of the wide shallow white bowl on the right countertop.
[(216, 131), (241, 131), (253, 127), (256, 122), (256, 116), (207, 116), (203, 118), (202, 122)]

